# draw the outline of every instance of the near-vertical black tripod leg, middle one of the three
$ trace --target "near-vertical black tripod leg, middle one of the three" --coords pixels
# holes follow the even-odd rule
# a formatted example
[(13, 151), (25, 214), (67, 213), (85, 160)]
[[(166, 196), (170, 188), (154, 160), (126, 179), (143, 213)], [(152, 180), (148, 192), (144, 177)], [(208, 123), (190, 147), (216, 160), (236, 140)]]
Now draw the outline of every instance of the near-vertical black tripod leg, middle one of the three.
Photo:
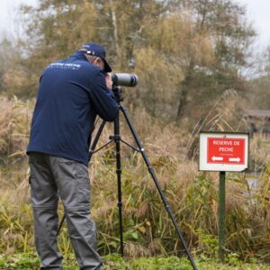
[(118, 210), (119, 210), (119, 230), (120, 230), (120, 248), (121, 256), (123, 257), (123, 237), (122, 237), (122, 215), (121, 215), (121, 154), (120, 154), (120, 127), (119, 127), (119, 115), (114, 121), (114, 141), (115, 141), (115, 153), (116, 153), (116, 175), (117, 175), (117, 189), (118, 189)]

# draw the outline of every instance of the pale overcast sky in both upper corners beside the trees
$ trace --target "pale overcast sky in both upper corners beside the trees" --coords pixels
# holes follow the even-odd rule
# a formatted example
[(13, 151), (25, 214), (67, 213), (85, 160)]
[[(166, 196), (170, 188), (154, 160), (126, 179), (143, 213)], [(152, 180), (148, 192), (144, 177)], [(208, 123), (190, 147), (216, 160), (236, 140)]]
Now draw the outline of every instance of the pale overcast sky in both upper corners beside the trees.
[[(270, 0), (233, 0), (247, 5), (247, 19), (254, 23), (259, 34), (260, 49), (270, 45)], [(36, 4), (37, 0), (0, 0), (0, 33), (18, 31), (18, 7), (20, 4)]]

